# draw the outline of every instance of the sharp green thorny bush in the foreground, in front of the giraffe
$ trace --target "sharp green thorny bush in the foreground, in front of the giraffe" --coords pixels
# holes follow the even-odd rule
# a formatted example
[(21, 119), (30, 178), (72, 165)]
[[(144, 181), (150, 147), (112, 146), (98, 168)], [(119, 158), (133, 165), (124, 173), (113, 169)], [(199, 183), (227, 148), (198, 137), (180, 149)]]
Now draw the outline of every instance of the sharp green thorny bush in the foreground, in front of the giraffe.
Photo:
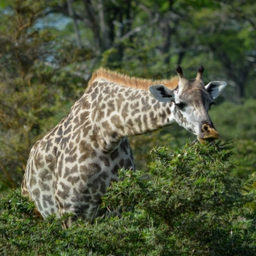
[(255, 255), (253, 178), (232, 175), (230, 144), (151, 151), (150, 172), (120, 170), (102, 206), (122, 208), (94, 223), (33, 217), (18, 190), (0, 200), (2, 255)]

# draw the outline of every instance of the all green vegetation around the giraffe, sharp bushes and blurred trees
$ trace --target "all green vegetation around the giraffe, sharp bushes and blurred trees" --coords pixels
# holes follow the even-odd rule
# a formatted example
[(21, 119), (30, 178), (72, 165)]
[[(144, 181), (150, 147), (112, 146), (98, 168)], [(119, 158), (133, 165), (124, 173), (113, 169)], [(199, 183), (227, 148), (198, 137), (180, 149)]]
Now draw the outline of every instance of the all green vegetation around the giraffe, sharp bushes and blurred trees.
[[(0, 254), (254, 255), (255, 12), (253, 0), (0, 1)], [(227, 81), (209, 114), (233, 154), (183, 147), (195, 137), (176, 125), (131, 137), (141, 172), (121, 171), (104, 202), (122, 219), (70, 230), (36, 220), (9, 189), (95, 68), (157, 79), (176, 64), (187, 78), (203, 64), (205, 82)]]

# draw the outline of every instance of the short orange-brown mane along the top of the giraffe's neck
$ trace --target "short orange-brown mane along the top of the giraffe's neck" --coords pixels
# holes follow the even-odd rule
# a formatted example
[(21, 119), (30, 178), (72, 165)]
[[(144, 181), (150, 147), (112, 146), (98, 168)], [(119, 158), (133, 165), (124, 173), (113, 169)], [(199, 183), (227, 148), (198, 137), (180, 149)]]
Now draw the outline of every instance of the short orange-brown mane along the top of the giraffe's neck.
[(130, 77), (126, 74), (121, 74), (116, 71), (109, 71), (103, 67), (100, 67), (93, 72), (92, 78), (88, 82), (88, 86), (92, 85), (92, 82), (96, 79), (103, 78), (108, 81), (116, 82), (119, 85), (124, 85), (131, 88), (140, 88), (147, 90), (150, 85), (165, 85), (168, 88), (176, 88), (178, 86), (178, 77), (173, 77), (170, 80), (150, 80), (145, 78)]

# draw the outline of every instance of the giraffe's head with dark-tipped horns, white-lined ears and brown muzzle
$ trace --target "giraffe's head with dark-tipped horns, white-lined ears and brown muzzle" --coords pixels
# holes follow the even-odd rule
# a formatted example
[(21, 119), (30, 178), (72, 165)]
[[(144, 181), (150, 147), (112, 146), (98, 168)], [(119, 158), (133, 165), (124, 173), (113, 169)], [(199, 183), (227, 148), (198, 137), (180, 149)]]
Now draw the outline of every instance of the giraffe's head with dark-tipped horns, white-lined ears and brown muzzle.
[(209, 118), (208, 111), (227, 83), (225, 81), (210, 81), (204, 85), (202, 81), (203, 67), (200, 66), (195, 79), (184, 77), (182, 67), (177, 66), (178, 86), (174, 89), (164, 85), (151, 85), (151, 94), (160, 102), (169, 102), (171, 108), (170, 120), (175, 120), (189, 132), (198, 137), (200, 143), (205, 140), (218, 139), (219, 133)]

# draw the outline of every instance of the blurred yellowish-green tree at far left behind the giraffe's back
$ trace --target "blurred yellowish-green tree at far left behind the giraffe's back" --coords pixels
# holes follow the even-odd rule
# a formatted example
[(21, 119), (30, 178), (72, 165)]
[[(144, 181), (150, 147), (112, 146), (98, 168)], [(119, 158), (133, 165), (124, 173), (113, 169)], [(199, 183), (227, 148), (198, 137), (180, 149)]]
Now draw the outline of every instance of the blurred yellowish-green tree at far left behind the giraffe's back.
[[(75, 49), (72, 59), (67, 55), (71, 44), (62, 43), (60, 50), (57, 36), (36, 26), (46, 7), (43, 1), (13, 1), (0, 21), (0, 181), (5, 187), (20, 184), (30, 148), (56, 116), (64, 116), (61, 106), (77, 97), (74, 83), (84, 80), (64, 70), (72, 59), (78, 61)], [(83, 59), (92, 56), (83, 52)]]

